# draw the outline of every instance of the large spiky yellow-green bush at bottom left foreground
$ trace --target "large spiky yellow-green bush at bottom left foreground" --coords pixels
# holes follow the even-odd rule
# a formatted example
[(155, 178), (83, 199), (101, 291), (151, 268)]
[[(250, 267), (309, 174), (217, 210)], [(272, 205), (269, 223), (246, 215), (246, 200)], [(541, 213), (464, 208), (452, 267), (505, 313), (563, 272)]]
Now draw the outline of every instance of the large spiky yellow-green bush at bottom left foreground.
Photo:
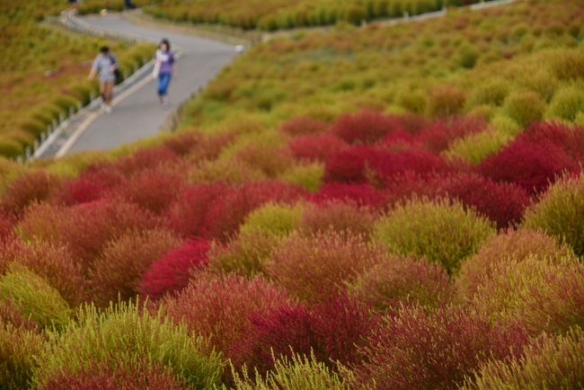
[(223, 372), (221, 356), (207, 340), (130, 302), (102, 313), (85, 306), (76, 323), (51, 333), (35, 385), (45, 386), (64, 371), (75, 374), (95, 364), (131, 369), (140, 360), (162, 364), (193, 389), (218, 385)]

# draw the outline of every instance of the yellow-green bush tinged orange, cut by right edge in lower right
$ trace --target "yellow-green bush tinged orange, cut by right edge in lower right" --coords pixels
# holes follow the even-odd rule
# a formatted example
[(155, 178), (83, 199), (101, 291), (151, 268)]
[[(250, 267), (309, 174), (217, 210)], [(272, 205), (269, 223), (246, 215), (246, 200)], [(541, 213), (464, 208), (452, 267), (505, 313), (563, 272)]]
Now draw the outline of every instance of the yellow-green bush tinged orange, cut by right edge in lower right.
[(584, 324), (584, 264), (533, 254), (491, 264), (472, 304), (491, 319), (521, 321), (534, 334), (565, 332)]

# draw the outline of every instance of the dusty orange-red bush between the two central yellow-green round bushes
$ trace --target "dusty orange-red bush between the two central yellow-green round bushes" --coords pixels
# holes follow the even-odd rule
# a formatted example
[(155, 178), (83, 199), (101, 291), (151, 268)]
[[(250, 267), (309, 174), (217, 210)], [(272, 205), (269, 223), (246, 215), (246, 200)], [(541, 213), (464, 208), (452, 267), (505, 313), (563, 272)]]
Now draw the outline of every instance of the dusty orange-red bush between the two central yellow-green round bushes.
[(358, 207), (351, 202), (332, 200), (320, 204), (307, 203), (298, 229), (306, 233), (334, 230), (340, 234), (356, 234), (368, 238), (375, 219), (373, 210)]

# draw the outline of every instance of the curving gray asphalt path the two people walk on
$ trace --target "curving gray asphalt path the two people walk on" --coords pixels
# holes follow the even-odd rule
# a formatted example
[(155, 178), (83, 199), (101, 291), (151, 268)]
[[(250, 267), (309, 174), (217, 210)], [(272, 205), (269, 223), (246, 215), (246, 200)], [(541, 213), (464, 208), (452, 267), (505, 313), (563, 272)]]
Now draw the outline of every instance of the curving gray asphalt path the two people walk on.
[(110, 114), (103, 113), (93, 121), (67, 154), (110, 149), (155, 136), (172, 109), (189, 99), (199, 87), (207, 84), (236, 55), (234, 47), (225, 43), (140, 27), (124, 20), (119, 14), (88, 16), (84, 21), (101, 29), (155, 42), (167, 38), (171, 45), (178, 45), (181, 48), (183, 55), (175, 64), (175, 73), (169, 89), (170, 109), (161, 107), (156, 95), (155, 80), (150, 80), (115, 105)]

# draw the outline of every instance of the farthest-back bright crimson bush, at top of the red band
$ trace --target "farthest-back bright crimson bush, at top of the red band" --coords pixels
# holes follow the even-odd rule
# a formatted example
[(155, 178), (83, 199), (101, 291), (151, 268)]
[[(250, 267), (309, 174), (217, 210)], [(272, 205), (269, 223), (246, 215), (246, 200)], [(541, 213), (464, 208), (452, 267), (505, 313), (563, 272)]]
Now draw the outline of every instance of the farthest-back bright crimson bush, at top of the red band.
[(398, 117), (362, 110), (341, 115), (332, 125), (332, 131), (350, 144), (373, 144), (401, 125)]

